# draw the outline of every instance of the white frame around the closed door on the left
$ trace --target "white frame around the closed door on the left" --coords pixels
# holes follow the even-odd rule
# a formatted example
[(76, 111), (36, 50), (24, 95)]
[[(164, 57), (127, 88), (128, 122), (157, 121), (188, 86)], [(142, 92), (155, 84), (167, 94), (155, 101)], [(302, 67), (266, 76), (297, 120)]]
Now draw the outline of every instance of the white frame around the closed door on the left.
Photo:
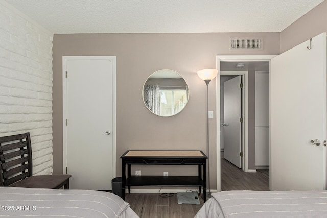
[(110, 60), (112, 62), (112, 175), (116, 176), (116, 56), (62, 56), (62, 129), (63, 129), (63, 173), (67, 167), (67, 61)]

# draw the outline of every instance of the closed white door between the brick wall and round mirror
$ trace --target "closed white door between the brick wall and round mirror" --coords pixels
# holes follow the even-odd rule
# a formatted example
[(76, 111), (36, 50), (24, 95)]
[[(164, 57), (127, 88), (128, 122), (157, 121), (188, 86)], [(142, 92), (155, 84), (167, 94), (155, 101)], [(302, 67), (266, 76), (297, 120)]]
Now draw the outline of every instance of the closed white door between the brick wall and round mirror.
[[(80, 58), (80, 60), (79, 60)], [(113, 75), (115, 58), (65, 62), (66, 167), (71, 189), (111, 190), (114, 177)]]

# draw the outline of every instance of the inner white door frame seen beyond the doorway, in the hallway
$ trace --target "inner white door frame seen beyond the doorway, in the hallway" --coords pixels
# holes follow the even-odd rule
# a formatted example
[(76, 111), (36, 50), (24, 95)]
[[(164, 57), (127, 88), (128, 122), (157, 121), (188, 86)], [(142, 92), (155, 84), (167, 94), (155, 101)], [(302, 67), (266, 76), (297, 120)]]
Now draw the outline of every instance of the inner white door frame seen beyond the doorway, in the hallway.
[[(242, 117), (243, 117), (243, 122), (242, 122), (242, 152), (243, 152), (243, 154), (247, 154), (247, 151), (245, 151), (245, 143), (248, 143), (248, 141), (245, 140), (245, 138), (247, 138), (245, 136), (248, 135), (248, 128), (246, 127), (245, 124), (246, 124), (246, 120), (247, 120), (247, 117), (248, 117), (248, 112), (247, 112), (247, 109), (246, 109), (248, 107), (248, 100), (247, 100), (247, 96), (248, 96), (248, 87), (247, 87), (248, 86), (247, 85), (248, 84), (248, 71), (246, 71), (246, 70), (242, 70), (242, 71), (220, 71), (219, 76), (241, 76), (242, 77), (242, 84), (243, 84), (243, 90), (244, 90), (244, 91), (242, 90), (242, 100), (241, 100), (242, 101)], [(219, 84), (220, 84), (220, 82), (219, 82)], [(221, 101), (221, 99), (219, 98), (219, 103), (220, 103), (220, 101)], [(218, 122), (217, 122), (217, 124), (218, 124)], [(220, 130), (219, 130), (219, 132), (220, 132)], [(246, 146), (246, 148), (247, 147), (248, 146)], [(242, 158), (242, 169), (243, 169), (243, 171), (251, 172), (252, 170), (248, 169), (248, 166), (247, 166), (248, 162), (245, 161), (244, 155), (241, 158)], [(246, 166), (245, 166), (245, 164), (246, 164)]]

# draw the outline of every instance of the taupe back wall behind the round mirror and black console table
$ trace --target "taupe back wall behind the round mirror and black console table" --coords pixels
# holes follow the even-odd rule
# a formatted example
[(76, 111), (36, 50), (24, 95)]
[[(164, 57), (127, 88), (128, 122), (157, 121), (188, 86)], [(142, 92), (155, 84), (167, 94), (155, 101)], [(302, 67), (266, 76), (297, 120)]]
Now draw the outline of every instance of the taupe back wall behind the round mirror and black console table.
[[(229, 51), (230, 37), (262, 37), (263, 50)], [(206, 85), (196, 72), (216, 68), (216, 55), (277, 55), (279, 33), (180, 34), (55, 34), (53, 39), (53, 157), (54, 173), (62, 173), (62, 56), (114, 55), (117, 57), (117, 154), (126, 150), (189, 149), (206, 153)], [(159, 69), (172, 69), (184, 77), (190, 99), (172, 117), (159, 117), (145, 107), (142, 87)], [(218, 87), (219, 88), (219, 87)], [(209, 110), (216, 111), (216, 81), (209, 84)], [(254, 107), (254, 106), (253, 106)], [(216, 188), (216, 117), (209, 120), (211, 188)], [(155, 128), (154, 128), (155, 127)], [(83, 136), (87, 137), (87, 136)], [(181, 168), (180, 168), (181, 167)], [(143, 175), (169, 171), (169, 175), (196, 174), (197, 167), (137, 167)], [(134, 170), (135, 168), (132, 168)], [(105, 168), (104, 168), (105, 170)]]

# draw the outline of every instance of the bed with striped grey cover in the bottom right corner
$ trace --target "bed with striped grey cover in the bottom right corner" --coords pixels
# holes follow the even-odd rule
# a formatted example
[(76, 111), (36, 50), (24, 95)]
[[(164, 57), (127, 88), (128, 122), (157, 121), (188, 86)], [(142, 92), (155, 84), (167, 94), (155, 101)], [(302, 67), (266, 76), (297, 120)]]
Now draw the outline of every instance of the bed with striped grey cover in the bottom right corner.
[(195, 218), (327, 217), (327, 191), (222, 191)]

